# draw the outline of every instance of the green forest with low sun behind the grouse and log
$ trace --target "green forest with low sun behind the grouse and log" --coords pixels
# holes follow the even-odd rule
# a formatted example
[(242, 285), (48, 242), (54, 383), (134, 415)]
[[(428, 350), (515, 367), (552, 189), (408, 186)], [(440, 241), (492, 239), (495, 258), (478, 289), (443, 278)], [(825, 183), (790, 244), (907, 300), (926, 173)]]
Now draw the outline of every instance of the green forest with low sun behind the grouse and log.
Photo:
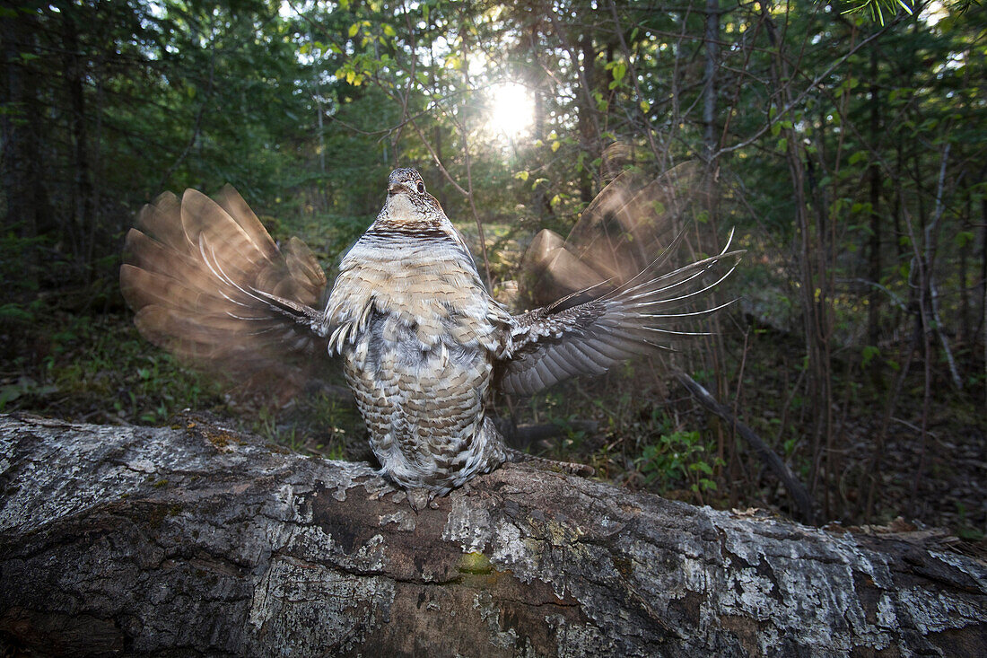
[[(500, 294), (615, 173), (699, 163), (690, 244), (731, 227), (738, 303), (674, 367), (792, 468), (816, 521), (987, 531), (987, 15), (976, 2), (112, 0), (0, 7), (0, 412), (185, 408), (371, 458), (338, 377), (230, 395), (143, 341), (117, 285), (140, 206), (234, 185), (332, 280), (417, 167)], [(906, 9), (910, 11), (906, 11)], [(616, 146), (615, 146), (616, 145)], [(668, 376), (529, 400), (527, 447), (634, 489), (794, 513)]]

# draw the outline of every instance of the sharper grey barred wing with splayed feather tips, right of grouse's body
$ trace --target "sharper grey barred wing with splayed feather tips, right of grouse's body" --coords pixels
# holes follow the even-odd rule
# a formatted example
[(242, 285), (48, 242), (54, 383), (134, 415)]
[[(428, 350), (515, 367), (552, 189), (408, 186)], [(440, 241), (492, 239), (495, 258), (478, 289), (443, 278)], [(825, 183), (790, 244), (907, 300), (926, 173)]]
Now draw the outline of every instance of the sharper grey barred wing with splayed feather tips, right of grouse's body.
[(517, 316), (511, 356), (500, 364), (499, 388), (530, 395), (569, 377), (602, 374), (645, 352), (670, 349), (678, 339), (703, 335), (685, 329), (690, 321), (731, 302), (701, 310), (690, 310), (689, 304), (729, 276), (741, 252), (727, 251), (727, 241), (716, 256), (652, 276), (655, 268), (667, 262), (680, 239), (681, 235), (652, 268), (619, 288), (569, 304), (575, 295), (592, 295), (605, 288), (608, 282), (603, 282)]

